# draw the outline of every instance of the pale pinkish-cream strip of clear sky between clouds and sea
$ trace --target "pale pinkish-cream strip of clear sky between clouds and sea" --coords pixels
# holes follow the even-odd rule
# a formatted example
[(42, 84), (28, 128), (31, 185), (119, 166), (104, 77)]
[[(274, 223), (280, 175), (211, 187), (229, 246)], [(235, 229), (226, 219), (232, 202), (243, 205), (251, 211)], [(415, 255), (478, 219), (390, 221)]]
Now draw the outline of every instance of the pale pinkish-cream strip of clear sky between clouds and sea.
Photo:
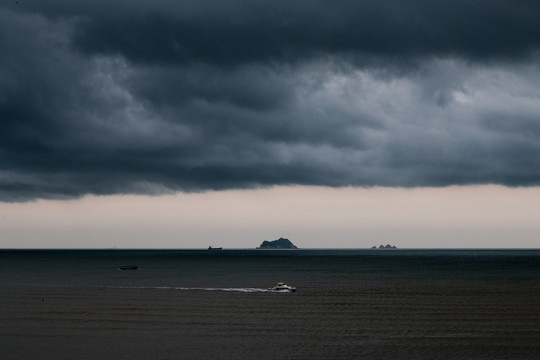
[(0, 203), (2, 248), (537, 248), (540, 188), (310, 186)]

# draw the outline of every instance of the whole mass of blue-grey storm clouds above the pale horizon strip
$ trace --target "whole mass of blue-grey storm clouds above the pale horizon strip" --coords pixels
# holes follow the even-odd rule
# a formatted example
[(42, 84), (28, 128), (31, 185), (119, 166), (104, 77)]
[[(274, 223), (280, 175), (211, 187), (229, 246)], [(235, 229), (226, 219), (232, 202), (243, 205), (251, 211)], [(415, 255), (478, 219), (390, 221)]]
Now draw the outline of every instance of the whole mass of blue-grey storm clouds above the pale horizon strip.
[(4, 1), (0, 210), (535, 191), (538, 84), (536, 0)]

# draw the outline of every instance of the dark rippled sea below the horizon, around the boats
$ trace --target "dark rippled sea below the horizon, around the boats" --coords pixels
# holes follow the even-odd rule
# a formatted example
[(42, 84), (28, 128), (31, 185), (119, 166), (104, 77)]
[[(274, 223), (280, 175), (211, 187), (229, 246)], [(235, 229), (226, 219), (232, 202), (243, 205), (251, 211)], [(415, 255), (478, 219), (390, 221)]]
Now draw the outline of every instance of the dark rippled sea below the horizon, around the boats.
[(1, 250), (0, 324), (6, 360), (537, 360), (540, 250)]

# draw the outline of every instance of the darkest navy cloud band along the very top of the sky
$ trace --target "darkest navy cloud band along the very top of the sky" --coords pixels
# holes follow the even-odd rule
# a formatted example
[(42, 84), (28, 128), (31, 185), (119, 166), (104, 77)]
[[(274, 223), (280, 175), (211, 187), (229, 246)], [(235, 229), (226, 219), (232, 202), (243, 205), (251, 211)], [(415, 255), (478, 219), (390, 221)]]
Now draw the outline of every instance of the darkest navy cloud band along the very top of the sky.
[(289, 62), (327, 53), (514, 58), (540, 40), (538, 1), (71, 3), (28, 7), (78, 16), (81, 51), (150, 64)]

